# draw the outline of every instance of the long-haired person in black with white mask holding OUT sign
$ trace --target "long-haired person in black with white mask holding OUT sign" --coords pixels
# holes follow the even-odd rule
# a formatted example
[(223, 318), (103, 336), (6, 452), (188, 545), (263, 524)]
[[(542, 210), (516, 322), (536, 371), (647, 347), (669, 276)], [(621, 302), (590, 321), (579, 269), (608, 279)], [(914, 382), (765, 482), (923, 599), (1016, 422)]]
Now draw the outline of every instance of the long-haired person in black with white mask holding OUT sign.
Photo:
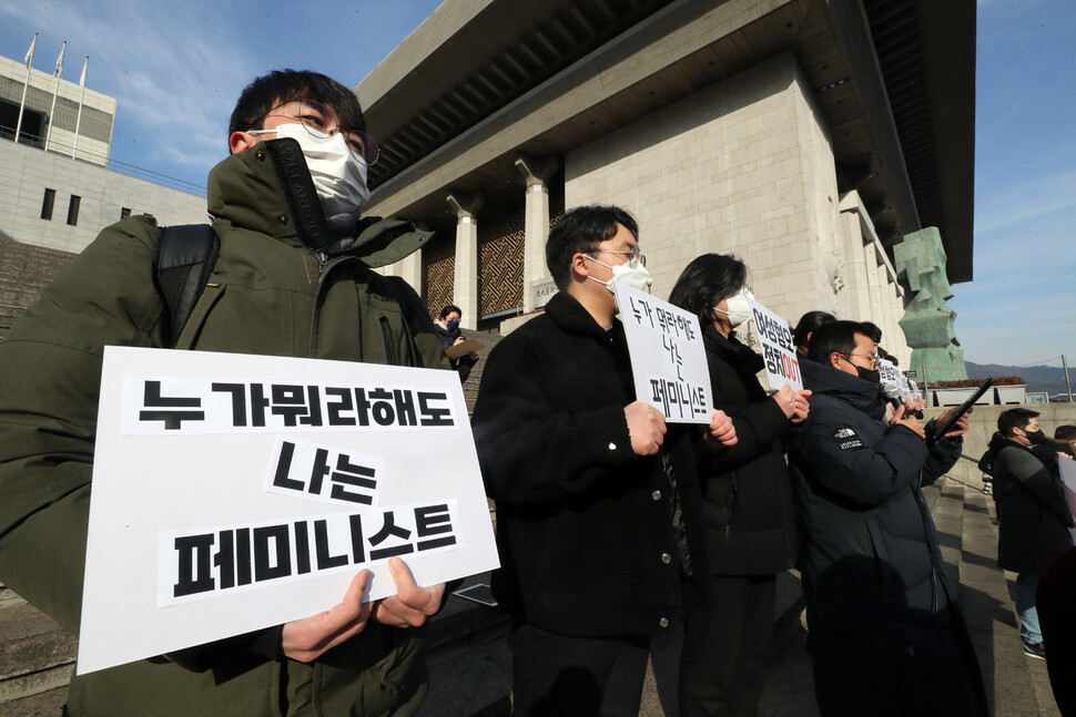
[(706, 254), (691, 262), (670, 301), (698, 315), (714, 408), (738, 442), (698, 450), (709, 570), (714, 602), (688, 617), (680, 672), (680, 709), (694, 715), (754, 715), (773, 637), (776, 573), (792, 566), (795, 524), (784, 442), (806, 416), (809, 391), (759, 383), (762, 358), (733, 328), (750, 317), (739, 259)]

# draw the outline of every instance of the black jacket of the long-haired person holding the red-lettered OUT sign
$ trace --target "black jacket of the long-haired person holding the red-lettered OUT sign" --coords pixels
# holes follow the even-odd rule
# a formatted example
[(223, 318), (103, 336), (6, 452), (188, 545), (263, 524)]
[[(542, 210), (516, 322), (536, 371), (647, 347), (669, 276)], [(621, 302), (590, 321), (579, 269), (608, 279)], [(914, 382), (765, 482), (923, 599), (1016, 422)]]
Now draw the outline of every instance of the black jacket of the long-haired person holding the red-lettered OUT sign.
[(698, 448), (710, 567), (715, 575), (771, 575), (792, 567), (795, 518), (784, 441), (792, 424), (755, 376), (762, 358), (733, 336), (702, 329), (714, 408), (737, 444)]

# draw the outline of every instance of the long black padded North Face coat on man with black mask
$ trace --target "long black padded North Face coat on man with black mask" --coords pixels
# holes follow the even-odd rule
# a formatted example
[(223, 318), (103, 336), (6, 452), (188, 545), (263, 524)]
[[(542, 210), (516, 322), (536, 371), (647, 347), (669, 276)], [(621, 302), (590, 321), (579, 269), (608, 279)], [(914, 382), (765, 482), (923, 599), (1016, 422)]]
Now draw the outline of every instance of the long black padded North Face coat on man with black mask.
[(920, 486), (956, 462), (961, 441), (927, 450), (912, 430), (882, 422), (877, 385), (812, 361), (800, 367), (814, 393), (789, 463), (812, 633), (900, 641), (902, 623), (932, 622), (955, 595)]

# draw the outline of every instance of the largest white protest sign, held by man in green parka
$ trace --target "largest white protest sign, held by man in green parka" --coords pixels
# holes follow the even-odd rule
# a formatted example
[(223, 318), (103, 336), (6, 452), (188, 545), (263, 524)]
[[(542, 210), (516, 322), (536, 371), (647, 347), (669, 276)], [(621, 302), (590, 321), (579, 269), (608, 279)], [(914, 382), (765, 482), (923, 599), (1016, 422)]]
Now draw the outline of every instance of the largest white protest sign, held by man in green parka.
[(498, 565), (455, 371), (105, 348), (79, 674), (393, 595), (394, 555)]

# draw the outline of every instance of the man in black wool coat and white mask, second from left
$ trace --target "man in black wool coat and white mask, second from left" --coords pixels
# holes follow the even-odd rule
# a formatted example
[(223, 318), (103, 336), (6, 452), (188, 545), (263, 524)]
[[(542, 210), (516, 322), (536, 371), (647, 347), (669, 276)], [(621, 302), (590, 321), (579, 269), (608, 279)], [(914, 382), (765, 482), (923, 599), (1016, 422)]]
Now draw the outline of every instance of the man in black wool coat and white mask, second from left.
[[(694, 437), (667, 433), (635, 397), (610, 286), (649, 277), (635, 219), (571, 209), (546, 262), (560, 291), (490, 352), (474, 413), (515, 714), (635, 717), (651, 639), (681, 618), (681, 581), (706, 582)], [(708, 438), (735, 442), (723, 413)]]

